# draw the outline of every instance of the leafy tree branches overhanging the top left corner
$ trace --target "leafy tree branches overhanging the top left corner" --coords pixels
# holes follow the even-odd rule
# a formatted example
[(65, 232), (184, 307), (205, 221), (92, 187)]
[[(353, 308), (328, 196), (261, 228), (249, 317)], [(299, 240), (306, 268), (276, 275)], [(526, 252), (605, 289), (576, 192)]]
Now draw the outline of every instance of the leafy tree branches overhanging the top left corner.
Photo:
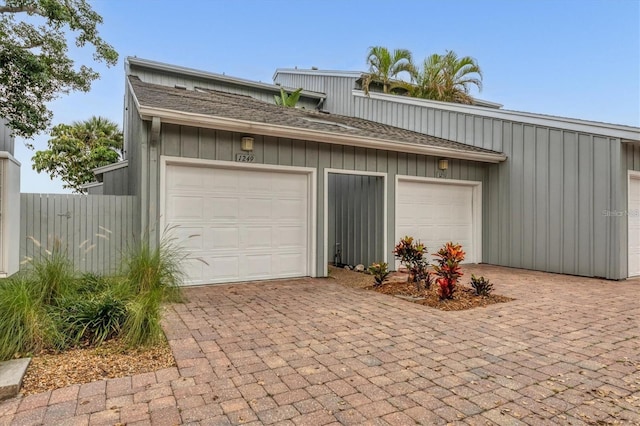
[[(2, 0), (0, 0), (2, 1)], [(0, 117), (26, 138), (45, 130), (46, 103), (60, 93), (88, 91), (98, 73), (78, 69), (67, 55), (65, 32), (95, 48), (94, 60), (115, 65), (118, 54), (98, 35), (102, 17), (87, 0), (5, 0), (0, 3)]]

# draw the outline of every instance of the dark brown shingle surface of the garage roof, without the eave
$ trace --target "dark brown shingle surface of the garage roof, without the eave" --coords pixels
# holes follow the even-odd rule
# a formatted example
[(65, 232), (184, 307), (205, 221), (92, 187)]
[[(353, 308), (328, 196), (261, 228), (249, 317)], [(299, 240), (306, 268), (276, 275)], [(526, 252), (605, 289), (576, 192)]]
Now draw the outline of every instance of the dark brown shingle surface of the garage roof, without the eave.
[(161, 86), (143, 82), (136, 76), (128, 78), (138, 105), (141, 107), (313, 130), (327, 134), (395, 141), (458, 152), (501, 155), (496, 151), (360, 118), (297, 108), (283, 108), (250, 96), (210, 89), (185, 90)]

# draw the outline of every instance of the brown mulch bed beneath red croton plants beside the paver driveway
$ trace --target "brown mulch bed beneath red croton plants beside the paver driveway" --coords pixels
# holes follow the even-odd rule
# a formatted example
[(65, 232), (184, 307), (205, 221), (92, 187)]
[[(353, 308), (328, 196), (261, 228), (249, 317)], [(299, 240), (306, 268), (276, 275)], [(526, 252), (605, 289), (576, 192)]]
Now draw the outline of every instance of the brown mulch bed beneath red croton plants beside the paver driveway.
[(429, 290), (425, 290), (424, 288), (418, 290), (414, 283), (407, 282), (407, 274), (403, 272), (392, 273), (389, 276), (388, 281), (379, 287), (373, 286), (373, 276), (366, 273), (354, 272), (330, 266), (329, 275), (335, 278), (339, 283), (349, 287), (373, 290), (378, 293), (401, 297), (410, 302), (430, 306), (442, 311), (461, 311), (513, 300), (510, 297), (498, 294), (476, 296), (473, 289), (464, 284), (457, 285), (456, 291), (453, 294), (453, 299), (440, 300), (437, 290), (438, 286), (436, 284), (433, 284)]

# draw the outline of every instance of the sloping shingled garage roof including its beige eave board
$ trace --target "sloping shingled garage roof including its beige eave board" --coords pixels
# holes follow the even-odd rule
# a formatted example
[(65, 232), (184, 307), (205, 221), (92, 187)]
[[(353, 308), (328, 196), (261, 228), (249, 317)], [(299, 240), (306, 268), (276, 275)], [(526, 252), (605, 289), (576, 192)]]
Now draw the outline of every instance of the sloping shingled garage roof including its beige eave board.
[(250, 96), (207, 93), (128, 77), (143, 120), (331, 144), (498, 163), (502, 153), (355, 117), (284, 108)]

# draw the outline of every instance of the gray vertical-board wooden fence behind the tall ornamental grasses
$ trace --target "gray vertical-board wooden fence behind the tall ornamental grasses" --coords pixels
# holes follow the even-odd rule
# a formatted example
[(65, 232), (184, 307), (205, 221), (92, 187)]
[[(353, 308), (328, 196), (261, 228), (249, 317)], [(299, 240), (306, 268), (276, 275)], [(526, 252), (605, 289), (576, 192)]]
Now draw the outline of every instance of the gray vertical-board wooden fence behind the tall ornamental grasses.
[(108, 273), (136, 235), (135, 197), (20, 194), (20, 259), (60, 244), (78, 271)]

